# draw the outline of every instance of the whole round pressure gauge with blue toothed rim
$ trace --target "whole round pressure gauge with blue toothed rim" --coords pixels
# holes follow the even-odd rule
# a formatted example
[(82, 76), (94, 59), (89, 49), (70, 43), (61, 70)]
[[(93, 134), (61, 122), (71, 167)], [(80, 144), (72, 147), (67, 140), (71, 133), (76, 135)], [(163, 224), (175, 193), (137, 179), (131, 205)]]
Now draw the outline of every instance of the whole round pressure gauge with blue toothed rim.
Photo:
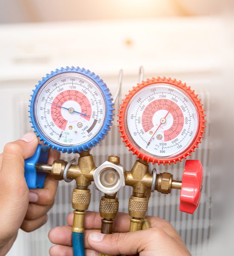
[(80, 153), (100, 143), (113, 120), (111, 93), (99, 76), (79, 67), (47, 74), (31, 95), (32, 128), (45, 145)]

